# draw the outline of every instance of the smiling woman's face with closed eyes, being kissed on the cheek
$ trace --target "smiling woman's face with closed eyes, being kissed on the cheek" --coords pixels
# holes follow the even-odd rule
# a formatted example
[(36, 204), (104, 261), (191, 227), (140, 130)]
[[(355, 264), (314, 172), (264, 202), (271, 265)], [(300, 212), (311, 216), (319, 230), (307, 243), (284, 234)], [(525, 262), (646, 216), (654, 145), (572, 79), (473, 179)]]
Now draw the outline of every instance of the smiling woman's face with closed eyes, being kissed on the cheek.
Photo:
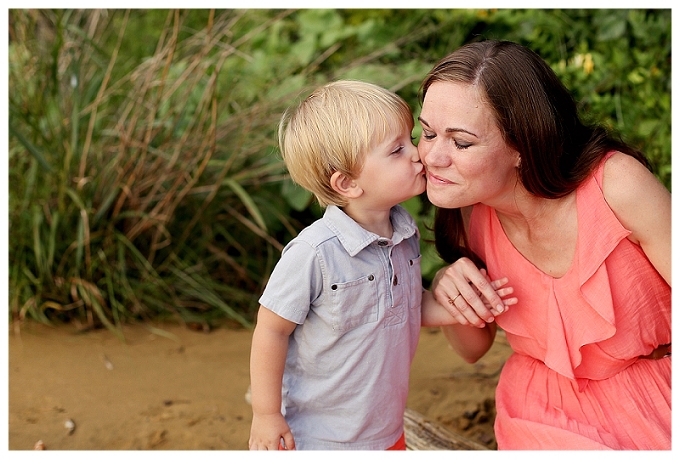
[(491, 207), (513, 199), (519, 153), (503, 141), (491, 109), (474, 85), (436, 82), (418, 117), (423, 128), (418, 154), (427, 170), (427, 196), (434, 205)]

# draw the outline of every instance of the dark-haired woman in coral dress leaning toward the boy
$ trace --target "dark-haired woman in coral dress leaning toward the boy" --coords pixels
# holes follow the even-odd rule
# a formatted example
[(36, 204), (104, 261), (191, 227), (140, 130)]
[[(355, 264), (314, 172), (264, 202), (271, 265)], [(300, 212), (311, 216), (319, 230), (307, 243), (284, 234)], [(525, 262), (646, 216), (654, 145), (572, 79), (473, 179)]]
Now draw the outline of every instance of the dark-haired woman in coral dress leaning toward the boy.
[(442, 59), (419, 120), (436, 246), (453, 263), (433, 292), (478, 327), (447, 338), (474, 362), (497, 323), (514, 351), (499, 449), (670, 449), (671, 195), (643, 155), (583, 125), (550, 67), (511, 42)]

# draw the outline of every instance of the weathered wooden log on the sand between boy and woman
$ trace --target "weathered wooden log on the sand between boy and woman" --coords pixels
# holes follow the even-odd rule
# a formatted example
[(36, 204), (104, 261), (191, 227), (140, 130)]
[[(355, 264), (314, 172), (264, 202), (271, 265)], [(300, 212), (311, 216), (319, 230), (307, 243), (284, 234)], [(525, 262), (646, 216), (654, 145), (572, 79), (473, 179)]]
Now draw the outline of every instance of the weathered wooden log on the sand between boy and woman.
[(489, 449), (409, 408), (404, 413), (404, 430), (406, 449), (411, 451)]

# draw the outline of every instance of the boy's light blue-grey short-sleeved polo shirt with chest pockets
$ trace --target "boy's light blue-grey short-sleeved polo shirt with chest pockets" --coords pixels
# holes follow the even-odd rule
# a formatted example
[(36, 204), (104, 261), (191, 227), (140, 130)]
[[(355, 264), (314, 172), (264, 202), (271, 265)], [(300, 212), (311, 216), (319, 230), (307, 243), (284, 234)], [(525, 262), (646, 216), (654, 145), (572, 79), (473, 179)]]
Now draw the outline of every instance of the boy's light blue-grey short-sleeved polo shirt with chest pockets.
[(300, 450), (385, 450), (403, 432), (422, 299), (418, 227), (392, 208), (392, 239), (340, 208), (283, 250), (260, 304), (299, 324), (282, 412)]

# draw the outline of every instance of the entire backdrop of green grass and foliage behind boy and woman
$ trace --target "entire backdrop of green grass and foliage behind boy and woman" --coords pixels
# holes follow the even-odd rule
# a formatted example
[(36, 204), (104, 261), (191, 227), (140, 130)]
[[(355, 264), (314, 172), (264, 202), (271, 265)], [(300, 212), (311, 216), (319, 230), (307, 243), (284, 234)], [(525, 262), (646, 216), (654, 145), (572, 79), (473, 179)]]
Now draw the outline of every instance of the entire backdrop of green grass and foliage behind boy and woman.
[[(537, 51), (670, 189), (670, 10), (10, 10), (9, 23), (14, 320), (251, 326), (281, 248), (321, 215), (278, 155), (281, 113), (353, 78), (417, 115), (425, 73), (480, 38)], [(405, 205), (427, 284), (433, 209)]]

